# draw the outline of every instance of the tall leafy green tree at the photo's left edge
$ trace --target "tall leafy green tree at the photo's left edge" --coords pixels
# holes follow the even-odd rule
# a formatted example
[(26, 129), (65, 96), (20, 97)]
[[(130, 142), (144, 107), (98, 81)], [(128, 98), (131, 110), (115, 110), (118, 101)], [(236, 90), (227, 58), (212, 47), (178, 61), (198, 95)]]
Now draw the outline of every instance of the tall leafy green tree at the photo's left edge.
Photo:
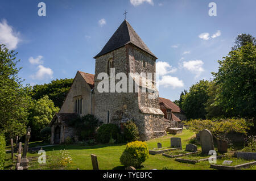
[(7, 139), (26, 134), (28, 109), (31, 98), (29, 87), (18, 77), (21, 68), (16, 65), (16, 52), (0, 45), (0, 132)]

